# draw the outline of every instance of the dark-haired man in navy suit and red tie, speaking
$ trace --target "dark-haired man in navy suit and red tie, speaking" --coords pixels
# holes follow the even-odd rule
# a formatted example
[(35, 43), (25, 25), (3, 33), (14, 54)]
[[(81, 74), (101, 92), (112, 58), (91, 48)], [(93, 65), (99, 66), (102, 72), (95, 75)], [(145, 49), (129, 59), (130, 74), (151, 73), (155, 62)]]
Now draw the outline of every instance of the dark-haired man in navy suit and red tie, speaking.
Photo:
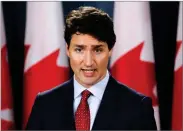
[(66, 18), (73, 78), (38, 94), (29, 130), (156, 130), (151, 99), (117, 82), (107, 65), (116, 41), (113, 22), (94, 7)]

